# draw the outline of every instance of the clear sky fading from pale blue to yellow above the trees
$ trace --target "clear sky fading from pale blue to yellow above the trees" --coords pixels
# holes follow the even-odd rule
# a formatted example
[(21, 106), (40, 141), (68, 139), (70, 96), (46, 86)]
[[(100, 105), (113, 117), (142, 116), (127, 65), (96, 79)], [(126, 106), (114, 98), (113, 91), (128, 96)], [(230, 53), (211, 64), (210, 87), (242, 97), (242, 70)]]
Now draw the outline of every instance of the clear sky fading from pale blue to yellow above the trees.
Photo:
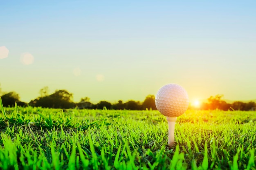
[(1, 0), (1, 88), (114, 103), (175, 83), (191, 102), (254, 100), (255, 11), (255, 0)]

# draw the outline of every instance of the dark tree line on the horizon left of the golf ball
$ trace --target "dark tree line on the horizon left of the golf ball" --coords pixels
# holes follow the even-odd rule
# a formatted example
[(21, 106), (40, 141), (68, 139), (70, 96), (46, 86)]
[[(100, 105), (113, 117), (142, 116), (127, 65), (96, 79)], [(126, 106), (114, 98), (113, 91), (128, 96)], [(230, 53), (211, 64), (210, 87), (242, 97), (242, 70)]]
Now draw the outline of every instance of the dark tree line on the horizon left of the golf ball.
[(123, 102), (119, 100), (115, 104), (111, 104), (108, 101), (100, 101), (97, 104), (90, 102), (89, 97), (81, 98), (80, 102), (73, 102), (73, 94), (67, 90), (56, 90), (54, 93), (49, 94), (49, 88), (46, 86), (40, 90), (40, 96), (36, 99), (31, 100), (29, 103), (21, 102), (19, 95), (11, 91), (1, 96), (3, 106), (13, 107), (15, 102), (18, 106), (34, 106), (42, 108), (79, 108), (79, 109), (115, 109), (115, 110), (157, 110), (155, 106), (155, 96), (146, 96), (144, 102), (129, 100)]

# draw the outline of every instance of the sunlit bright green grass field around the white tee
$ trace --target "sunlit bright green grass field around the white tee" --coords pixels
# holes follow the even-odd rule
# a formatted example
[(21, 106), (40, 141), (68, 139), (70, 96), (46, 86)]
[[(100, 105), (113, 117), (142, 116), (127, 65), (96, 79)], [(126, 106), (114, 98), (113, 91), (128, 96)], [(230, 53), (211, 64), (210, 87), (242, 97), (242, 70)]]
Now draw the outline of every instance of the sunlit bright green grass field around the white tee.
[(2, 170), (255, 170), (256, 112), (3, 108)]

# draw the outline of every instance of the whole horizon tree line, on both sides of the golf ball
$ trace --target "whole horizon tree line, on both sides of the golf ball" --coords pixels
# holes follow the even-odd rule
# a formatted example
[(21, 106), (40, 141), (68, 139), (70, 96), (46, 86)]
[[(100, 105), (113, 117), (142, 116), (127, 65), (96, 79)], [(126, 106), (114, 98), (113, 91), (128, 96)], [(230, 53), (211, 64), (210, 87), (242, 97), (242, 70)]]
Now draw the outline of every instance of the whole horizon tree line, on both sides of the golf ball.
[[(90, 102), (89, 97), (81, 98), (80, 102), (73, 102), (73, 94), (67, 90), (56, 90), (54, 93), (49, 94), (49, 88), (46, 86), (40, 90), (40, 96), (36, 99), (31, 100), (29, 103), (20, 101), (18, 93), (12, 91), (0, 95), (2, 98), (3, 106), (12, 107), (15, 102), (18, 106), (34, 106), (42, 108), (79, 108), (79, 109), (114, 109), (114, 110), (157, 110), (155, 106), (155, 96), (148, 95), (143, 102), (129, 100), (123, 102), (119, 100), (117, 103), (110, 103), (108, 101), (100, 101), (97, 104)], [(223, 95), (211, 96), (207, 99), (207, 102), (203, 102), (200, 108), (189, 106), (189, 109), (200, 109), (200, 110), (256, 110), (256, 103), (251, 102), (240, 102), (235, 101), (231, 104), (222, 100)]]

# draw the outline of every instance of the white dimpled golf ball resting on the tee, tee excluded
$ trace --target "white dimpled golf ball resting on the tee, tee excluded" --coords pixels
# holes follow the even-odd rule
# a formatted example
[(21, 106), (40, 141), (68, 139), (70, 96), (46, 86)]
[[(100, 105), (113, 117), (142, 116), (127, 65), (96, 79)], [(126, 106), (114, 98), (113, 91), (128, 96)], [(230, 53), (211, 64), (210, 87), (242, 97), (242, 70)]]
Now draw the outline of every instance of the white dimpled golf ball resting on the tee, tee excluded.
[(189, 97), (182, 86), (167, 84), (157, 92), (155, 105), (163, 115), (178, 117), (189, 107)]

